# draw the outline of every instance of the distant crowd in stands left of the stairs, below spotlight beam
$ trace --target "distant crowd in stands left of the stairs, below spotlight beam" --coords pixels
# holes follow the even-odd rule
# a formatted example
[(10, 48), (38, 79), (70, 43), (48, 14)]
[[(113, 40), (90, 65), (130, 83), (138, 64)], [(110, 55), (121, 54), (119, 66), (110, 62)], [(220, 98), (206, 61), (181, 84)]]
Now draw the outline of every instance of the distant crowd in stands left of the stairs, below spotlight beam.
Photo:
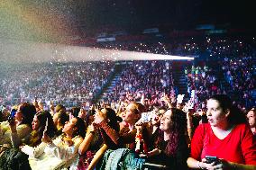
[(20, 103), (41, 99), (42, 103), (77, 105), (92, 101), (100, 94), (114, 62), (51, 63), (34, 67), (7, 68), (1, 78), (0, 103)]

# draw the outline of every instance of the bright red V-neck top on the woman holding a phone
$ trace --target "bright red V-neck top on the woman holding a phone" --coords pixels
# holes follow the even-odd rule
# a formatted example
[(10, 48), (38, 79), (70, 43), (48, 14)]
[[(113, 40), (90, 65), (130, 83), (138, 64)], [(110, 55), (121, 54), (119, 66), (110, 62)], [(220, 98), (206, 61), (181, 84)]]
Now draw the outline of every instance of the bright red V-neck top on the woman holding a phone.
[(227, 161), (256, 165), (256, 138), (247, 124), (238, 124), (224, 138), (218, 139), (209, 123), (200, 124), (191, 141), (191, 157), (202, 160), (206, 156)]

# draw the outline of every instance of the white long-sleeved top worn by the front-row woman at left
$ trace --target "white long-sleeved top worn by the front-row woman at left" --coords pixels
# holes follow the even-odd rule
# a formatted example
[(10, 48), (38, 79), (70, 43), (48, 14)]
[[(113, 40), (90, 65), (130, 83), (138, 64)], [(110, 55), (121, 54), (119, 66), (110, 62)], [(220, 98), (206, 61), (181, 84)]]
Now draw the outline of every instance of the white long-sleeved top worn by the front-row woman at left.
[(41, 142), (38, 147), (24, 146), (22, 151), (29, 155), (32, 170), (77, 169), (78, 148), (83, 141), (80, 137), (72, 139), (74, 144), (68, 146), (61, 140), (61, 136), (54, 139), (50, 145)]

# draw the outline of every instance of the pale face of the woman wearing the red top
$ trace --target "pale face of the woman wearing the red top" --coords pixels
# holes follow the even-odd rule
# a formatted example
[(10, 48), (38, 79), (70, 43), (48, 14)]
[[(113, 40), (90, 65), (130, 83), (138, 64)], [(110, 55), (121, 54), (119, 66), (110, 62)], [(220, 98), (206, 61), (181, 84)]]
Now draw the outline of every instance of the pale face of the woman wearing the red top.
[(207, 119), (211, 126), (225, 127), (227, 123), (227, 116), (229, 111), (224, 112), (220, 103), (214, 99), (207, 101)]

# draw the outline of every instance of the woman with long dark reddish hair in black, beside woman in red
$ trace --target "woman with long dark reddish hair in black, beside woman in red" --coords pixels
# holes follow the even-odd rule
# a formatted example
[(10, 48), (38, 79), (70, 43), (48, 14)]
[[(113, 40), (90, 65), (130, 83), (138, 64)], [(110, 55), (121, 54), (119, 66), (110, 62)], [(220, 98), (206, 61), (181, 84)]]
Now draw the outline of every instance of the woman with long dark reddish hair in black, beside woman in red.
[(160, 120), (160, 130), (154, 149), (148, 152), (147, 162), (168, 166), (171, 169), (187, 169), (187, 119), (186, 113), (171, 108)]

